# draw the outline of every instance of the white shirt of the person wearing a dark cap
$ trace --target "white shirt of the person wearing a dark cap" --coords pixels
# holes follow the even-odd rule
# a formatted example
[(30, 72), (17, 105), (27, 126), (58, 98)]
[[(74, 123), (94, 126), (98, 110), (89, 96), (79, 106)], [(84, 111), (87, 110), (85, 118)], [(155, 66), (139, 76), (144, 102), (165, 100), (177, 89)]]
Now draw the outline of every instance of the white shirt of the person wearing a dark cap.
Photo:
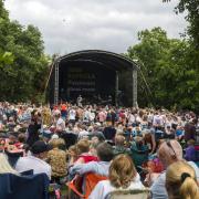
[(51, 179), (51, 166), (34, 156), (21, 157), (17, 161), (15, 170), (23, 172), (33, 169), (33, 174), (46, 174)]

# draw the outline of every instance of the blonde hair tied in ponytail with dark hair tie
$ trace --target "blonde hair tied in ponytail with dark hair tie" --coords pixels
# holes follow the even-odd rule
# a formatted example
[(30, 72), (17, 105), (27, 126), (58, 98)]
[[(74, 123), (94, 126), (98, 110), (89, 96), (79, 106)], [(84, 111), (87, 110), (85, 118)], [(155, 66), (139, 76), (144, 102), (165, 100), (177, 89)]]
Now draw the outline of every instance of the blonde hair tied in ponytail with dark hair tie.
[(199, 188), (196, 172), (186, 161), (171, 164), (166, 172), (166, 188), (169, 198), (172, 199), (198, 199)]

